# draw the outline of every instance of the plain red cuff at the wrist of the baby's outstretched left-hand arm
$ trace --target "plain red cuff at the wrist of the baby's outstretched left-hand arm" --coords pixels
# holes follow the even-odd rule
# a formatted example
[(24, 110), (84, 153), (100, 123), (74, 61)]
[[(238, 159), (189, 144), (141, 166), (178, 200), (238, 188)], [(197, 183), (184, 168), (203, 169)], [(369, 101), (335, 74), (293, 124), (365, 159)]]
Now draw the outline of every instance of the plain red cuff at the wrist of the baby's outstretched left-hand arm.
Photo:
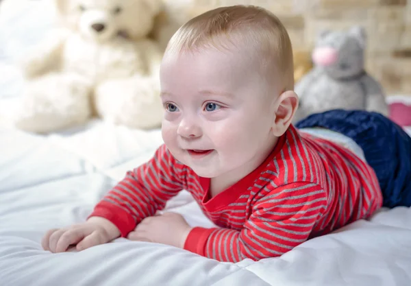
[(121, 237), (127, 237), (127, 235), (136, 228), (136, 222), (132, 215), (123, 210), (123, 208), (109, 204), (108, 202), (100, 202), (97, 204), (87, 219), (90, 217), (103, 217), (108, 219), (119, 228)]

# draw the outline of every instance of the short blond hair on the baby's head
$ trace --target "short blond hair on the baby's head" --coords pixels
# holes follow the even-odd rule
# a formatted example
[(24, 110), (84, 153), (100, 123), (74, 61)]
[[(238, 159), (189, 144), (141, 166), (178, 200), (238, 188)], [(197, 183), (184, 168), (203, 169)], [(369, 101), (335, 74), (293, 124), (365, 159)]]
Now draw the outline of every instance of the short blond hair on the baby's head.
[[(230, 45), (231, 44), (231, 45)], [(210, 10), (182, 25), (173, 35), (166, 53), (250, 48), (256, 51), (260, 71), (270, 82), (279, 77), (279, 89), (294, 89), (291, 41), (284, 25), (273, 13), (253, 5), (234, 5)]]

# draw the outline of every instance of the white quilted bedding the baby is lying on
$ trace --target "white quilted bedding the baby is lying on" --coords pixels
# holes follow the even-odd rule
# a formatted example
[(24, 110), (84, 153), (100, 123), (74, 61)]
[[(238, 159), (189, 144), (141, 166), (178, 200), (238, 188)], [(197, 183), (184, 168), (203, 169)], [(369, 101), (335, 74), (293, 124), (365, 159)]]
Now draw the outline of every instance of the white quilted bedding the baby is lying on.
[[(12, 110), (21, 90), (11, 62), (50, 23), (39, 17), (46, 10), (42, 1), (23, 2), (21, 10), (0, 14), (0, 115)], [(127, 239), (82, 252), (42, 250), (46, 230), (83, 222), (125, 171), (160, 144), (160, 130), (99, 120), (47, 136), (0, 123), (0, 285), (411, 285), (411, 209), (405, 207), (383, 208), (369, 220), (258, 262), (220, 263)], [(192, 226), (212, 226), (186, 191), (166, 211), (181, 213)]]

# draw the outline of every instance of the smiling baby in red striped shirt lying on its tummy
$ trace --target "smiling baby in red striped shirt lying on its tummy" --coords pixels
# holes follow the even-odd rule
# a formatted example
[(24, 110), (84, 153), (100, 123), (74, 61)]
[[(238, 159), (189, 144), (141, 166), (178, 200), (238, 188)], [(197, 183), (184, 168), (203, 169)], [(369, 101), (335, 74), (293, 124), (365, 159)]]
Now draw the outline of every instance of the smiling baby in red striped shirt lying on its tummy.
[[(164, 145), (127, 172), (87, 222), (49, 230), (43, 248), (84, 250), (126, 237), (219, 261), (257, 261), (384, 204), (409, 204), (410, 186), (399, 180), (409, 182), (410, 173), (397, 180), (378, 165), (393, 161), (397, 145), (411, 157), (405, 132), (382, 115), (344, 110), (313, 115), (297, 129), (292, 67), (286, 29), (262, 8), (218, 8), (183, 25), (160, 72)], [(378, 141), (387, 130), (401, 137), (397, 145)], [(378, 157), (383, 151), (391, 157)], [(182, 190), (218, 227), (158, 215)]]

